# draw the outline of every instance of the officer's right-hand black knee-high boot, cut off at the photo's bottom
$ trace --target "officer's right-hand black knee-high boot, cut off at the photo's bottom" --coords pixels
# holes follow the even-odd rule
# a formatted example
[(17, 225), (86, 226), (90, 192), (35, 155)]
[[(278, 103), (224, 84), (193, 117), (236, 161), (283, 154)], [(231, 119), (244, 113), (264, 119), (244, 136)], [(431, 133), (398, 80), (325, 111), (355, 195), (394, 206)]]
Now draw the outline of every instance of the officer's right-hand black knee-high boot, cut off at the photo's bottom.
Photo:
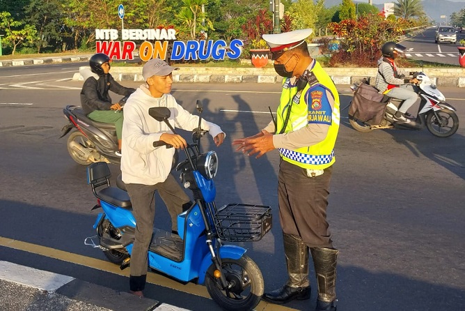
[(310, 248), (318, 284), (318, 300), (315, 311), (336, 311), (336, 264), (338, 250)]

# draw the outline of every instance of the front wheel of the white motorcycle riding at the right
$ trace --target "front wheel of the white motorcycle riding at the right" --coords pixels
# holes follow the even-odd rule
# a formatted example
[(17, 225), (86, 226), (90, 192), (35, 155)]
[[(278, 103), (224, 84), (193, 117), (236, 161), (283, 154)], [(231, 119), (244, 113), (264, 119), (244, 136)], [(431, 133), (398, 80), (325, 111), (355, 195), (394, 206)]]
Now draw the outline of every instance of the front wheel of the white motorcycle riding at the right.
[(426, 116), (426, 127), (432, 135), (437, 137), (449, 137), (455, 134), (459, 128), (459, 117), (450, 109), (441, 109), (436, 112), (439, 119), (431, 111)]

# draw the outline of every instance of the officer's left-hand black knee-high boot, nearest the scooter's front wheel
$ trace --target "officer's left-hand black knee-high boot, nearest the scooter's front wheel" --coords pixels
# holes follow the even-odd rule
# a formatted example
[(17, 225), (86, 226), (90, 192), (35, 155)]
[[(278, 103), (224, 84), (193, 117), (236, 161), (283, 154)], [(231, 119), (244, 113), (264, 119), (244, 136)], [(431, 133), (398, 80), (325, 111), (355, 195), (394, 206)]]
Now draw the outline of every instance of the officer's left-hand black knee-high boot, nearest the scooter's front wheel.
[(263, 298), (272, 303), (287, 303), (294, 299), (310, 298), (308, 281), (308, 247), (304, 241), (292, 234), (283, 234), (284, 254), (289, 278), (280, 289), (265, 293)]

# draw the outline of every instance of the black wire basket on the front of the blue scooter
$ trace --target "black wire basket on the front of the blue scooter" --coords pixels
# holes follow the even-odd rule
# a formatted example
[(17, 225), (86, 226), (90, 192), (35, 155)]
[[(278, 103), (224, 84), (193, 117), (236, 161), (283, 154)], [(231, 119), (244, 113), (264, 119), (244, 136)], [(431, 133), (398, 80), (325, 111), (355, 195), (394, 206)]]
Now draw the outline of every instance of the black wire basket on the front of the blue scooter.
[(271, 207), (232, 203), (219, 208), (213, 219), (221, 240), (259, 241), (271, 229)]

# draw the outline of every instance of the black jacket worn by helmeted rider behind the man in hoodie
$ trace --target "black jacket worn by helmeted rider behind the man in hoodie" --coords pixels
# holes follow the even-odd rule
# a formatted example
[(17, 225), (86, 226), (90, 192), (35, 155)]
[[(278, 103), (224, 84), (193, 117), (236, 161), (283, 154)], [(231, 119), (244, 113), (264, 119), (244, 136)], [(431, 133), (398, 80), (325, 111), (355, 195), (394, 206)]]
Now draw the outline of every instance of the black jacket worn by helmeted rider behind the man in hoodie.
[(100, 75), (98, 80), (95, 77), (88, 77), (81, 90), (81, 107), (84, 113), (90, 114), (94, 110), (110, 110), (112, 103), (108, 91), (128, 96), (136, 89), (122, 86), (109, 73)]

